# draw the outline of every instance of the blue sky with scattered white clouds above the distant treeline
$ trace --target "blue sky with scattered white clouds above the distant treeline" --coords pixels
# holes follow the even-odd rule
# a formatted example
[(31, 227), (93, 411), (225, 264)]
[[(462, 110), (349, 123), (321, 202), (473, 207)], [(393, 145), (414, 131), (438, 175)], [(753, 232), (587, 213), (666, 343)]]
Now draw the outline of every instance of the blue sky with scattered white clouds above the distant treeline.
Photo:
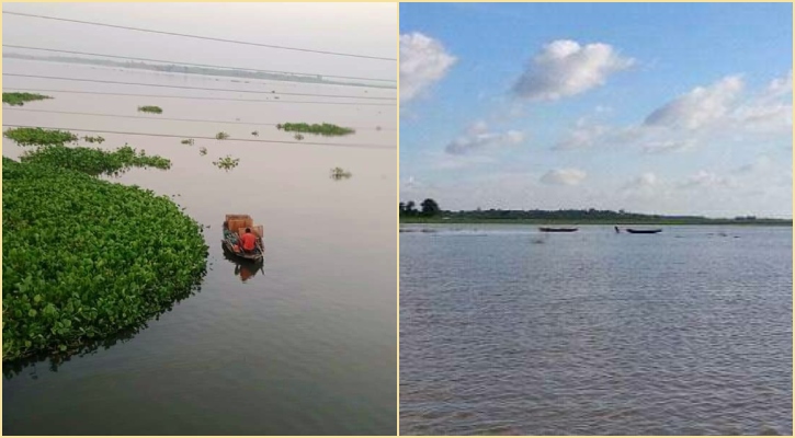
[(401, 199), (792, 217), (792, 4), (402, 3)]

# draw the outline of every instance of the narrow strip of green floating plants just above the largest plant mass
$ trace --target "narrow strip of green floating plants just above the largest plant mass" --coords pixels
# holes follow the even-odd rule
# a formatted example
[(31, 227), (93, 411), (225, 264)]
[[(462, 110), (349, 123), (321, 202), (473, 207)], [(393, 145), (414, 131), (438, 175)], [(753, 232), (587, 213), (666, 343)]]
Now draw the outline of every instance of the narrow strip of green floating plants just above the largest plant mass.
[(109, 152), (99, 148), (69, 148), (49, 146), (29, 151), (20, 157), (23, 163), (43, 164), (52, 168), (69, 169), (92, 176), (118, 176), (130, 168), (171, 168), (169, 159), (147, 155), (144, 150), (136, 151), (127, 145)]

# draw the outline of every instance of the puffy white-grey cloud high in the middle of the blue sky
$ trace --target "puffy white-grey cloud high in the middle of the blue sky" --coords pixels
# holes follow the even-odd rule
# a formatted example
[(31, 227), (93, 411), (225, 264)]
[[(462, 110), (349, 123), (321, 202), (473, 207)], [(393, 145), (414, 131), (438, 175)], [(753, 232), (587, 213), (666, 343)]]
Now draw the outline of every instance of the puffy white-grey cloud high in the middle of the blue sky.
[(513, 92), (531, 101), (556, 101), (602, 85), (609, 76), (634, 62), (607, 44), (582, 46), (573, 41), (558, 39), (533, 57), (513, 85)]

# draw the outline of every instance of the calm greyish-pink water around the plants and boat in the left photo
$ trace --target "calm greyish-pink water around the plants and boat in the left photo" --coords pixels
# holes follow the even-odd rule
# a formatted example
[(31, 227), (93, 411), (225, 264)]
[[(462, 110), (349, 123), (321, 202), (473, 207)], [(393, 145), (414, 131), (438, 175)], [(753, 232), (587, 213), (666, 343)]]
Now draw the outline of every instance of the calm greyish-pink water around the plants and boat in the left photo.
[[(242, 83), (21, 60), (7, 60), (3, 72), (269, 92), (396, 95), (365, 88)], [(4, 78), (3, 87), (7, 91), (44, 88), (265, 97), (27, 78)], [(295, 141), (291, 134), (262, 124), (327, 122), (359, 129), (341, 138), (305, 135), (304, 141), (389, 148), (214, 139), (185, 146), (181, 138), (100, 134), (106, 139), (103, 148), (127, 142), (171, 159), (169, 171), (132, 170), (114, 181), (173, 196), (189, 216), (208, 224), (209, 270), (200, 291), (125, 342), (57, 367), (48, 360), (4, 367), (4, 435), (396, 433), (395, 101), (386, 101), (393, 106), (360, 106), (44, 94), (56, 99), (25, 104), (23, 110), (140, 119), (4, 106), (3, 123), (71, 128), (81, 136), (94, 134), (80, 128), (183, 138), (214, 137), (224, 130), (232, 139)], [(251, 124), (157, 120), (157, 115), (137, 113), (141, 105), (161, 106), (161, 117)], [(259, 130), (259, 137), (251, 136), (253, 130)], [(207, 148), (204, 157), (201, 147)], [(3, 139), (3, 155), (16, 159), (21, 150)], [(240, 159), (237, 169), (226, 172), (212, 164), (227, 154)], [(330, 170), (336, 166), (353, 176), (331, 180)], [(264, 226), (262, 266), (238, 266), (225, 258), (220, 226), (226, 214), (249, 214)]]

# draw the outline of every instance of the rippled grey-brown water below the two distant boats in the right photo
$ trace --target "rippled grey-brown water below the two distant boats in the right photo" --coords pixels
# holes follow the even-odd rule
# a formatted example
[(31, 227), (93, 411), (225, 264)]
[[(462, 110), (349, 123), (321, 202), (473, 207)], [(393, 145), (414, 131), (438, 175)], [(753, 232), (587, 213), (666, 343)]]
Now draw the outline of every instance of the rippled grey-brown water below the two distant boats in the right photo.
[(401, 435), (792, 435), (792, 228), (536, 230), (401, 233)]

